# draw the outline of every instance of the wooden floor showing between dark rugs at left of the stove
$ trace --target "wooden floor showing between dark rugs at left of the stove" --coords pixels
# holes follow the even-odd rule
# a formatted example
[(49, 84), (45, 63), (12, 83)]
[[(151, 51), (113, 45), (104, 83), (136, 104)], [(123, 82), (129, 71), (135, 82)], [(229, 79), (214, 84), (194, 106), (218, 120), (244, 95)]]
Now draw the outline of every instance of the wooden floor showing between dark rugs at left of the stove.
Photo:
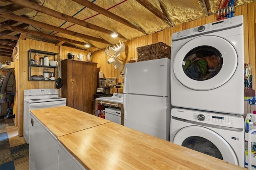
[[(0, 123), (5, 123), (6, 126), (5, 128), (0, 128), (0, 133), (7, 132), (10, 148), (26, 144), (24, 137), (18, 136), (18, 127), (15, 127), (13, 119), (4, 119), (5, 121), (1, 121)], [(0, 125), (0, 127), (4, 127), (4, 125)], [(24, 156), (20, 159), (13, 160), (13, 162), (15, 170), (28, 170), (29, 168), (29, 156)]]

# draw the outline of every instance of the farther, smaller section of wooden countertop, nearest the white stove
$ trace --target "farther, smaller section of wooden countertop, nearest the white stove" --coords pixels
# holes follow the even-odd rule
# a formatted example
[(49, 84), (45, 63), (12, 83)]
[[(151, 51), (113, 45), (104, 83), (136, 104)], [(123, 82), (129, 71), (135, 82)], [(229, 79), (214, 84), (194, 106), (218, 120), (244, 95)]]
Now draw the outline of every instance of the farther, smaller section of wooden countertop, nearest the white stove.
[(30, 110), (30, 112), (50, 130), (59, 136), (108, 123), (110, 121), (68, 106)]

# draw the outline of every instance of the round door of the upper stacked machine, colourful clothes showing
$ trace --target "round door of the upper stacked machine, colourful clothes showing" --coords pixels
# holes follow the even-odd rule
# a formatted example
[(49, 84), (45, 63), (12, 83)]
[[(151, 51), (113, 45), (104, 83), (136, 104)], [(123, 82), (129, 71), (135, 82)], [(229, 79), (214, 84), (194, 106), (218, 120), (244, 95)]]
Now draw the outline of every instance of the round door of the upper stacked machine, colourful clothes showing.
[(237, 64), (238, 56), (230, 42), (217, 36), (200, 36), (178, 50), (172, 69), (184, 86), (206, 91), (226, 83)]

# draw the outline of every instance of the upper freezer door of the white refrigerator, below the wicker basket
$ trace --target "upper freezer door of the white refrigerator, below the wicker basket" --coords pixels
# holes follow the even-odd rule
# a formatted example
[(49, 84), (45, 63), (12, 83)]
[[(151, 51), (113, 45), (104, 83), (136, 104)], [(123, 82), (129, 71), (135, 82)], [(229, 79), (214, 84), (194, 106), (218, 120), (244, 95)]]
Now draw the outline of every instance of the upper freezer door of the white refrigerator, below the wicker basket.
[(124, 93), (168, 96), (170, 59), (125, 64)]

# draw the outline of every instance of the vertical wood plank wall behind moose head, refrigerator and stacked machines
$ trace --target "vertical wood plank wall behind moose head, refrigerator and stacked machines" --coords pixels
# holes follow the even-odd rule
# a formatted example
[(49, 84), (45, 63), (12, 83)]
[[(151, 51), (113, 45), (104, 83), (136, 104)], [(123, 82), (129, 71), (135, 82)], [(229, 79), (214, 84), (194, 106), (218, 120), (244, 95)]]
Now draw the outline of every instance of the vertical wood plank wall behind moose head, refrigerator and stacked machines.
[[(244, 62), (250, 63), (252, 65), (252, 75), (253, 77), (253, 89), (256, 89), (256, 63), (255, 63), (255, 36), (256, 36), (256, 2), (251, 2), (242, 6), (235, 8), (235, 16), (243, 15), (244, 16)], [(216, 21), (216, 15), (206, 16), (204, 18), (199, 18), (197, 20), (186, 22), (150, 34), (143, 36), (134, 40), (125, 42), (126, 51), (122, 52), (120, 57), (127, 63), (128, 60), (136, 58), (137, 56), (137, 47), (150, 45), (157, 42), (164, 42), (167, 45), (171, 46), (171, 36), (175, 32), (186, 30), (189, 28), (194, 28), (196, 26), (209, 24)], [(120, 77), (120, 72), (117, 69), (114, 69), (113, 64), (107, 64), (108, 55), (105, 54), (104, 50), (96, 51), (92, 54), (92, 61), (98, 63), (97, 67), (100, 71), (103, 71), (105, 77), (118, 77), (118, 82), (122, 82), (123, 79)], [(119, 92), (119, 91), (118, 91)]]

